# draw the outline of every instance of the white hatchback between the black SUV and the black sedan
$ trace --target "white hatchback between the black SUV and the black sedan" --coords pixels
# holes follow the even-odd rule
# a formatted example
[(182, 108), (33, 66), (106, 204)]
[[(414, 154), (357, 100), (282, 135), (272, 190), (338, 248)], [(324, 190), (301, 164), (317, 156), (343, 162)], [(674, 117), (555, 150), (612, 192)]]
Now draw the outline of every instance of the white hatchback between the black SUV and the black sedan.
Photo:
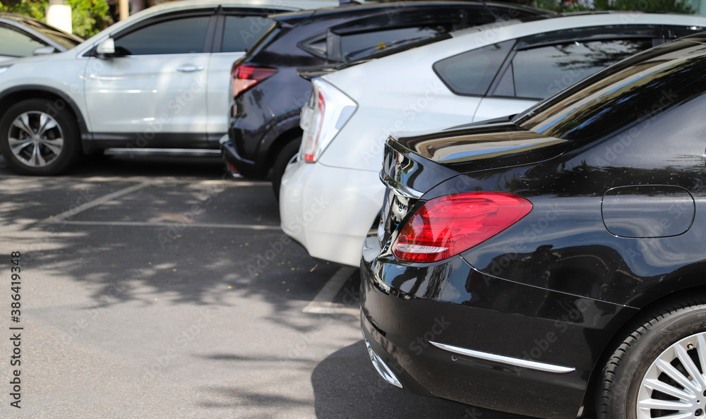
[[(455, 32), (324, 75), (302, 109), (309, 128), (297, 162), (282, 178), (282, 229), (311, 256), (355, 266), (383, 200), (378, 174), (388, 135), (516, 114), (611, 63), (703, 28), (702, 16), (657, 13), (535, 18)], [(325, 206), (311, 217), (316, 202)]]

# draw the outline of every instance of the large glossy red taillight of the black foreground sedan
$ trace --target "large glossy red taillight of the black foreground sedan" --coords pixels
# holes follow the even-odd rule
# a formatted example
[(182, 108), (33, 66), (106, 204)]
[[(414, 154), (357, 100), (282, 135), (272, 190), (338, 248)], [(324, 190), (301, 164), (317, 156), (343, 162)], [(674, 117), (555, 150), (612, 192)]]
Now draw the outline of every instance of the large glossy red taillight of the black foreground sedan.
[(532, 211), (511, 193), (469, 192), (434, 198), (409, 219), (393, 243), (397, 259), (436, 262), (495, 236)]

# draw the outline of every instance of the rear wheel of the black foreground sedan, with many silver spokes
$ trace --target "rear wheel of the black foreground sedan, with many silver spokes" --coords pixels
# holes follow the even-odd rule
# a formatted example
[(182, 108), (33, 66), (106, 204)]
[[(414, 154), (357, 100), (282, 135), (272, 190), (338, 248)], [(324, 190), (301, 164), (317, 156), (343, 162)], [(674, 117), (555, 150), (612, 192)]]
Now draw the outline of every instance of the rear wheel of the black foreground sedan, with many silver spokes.
[(706, 298), (654, 312), (606, 363), (599, 418), (660, 418), (675, 412), (706, 418), (705, 364)]

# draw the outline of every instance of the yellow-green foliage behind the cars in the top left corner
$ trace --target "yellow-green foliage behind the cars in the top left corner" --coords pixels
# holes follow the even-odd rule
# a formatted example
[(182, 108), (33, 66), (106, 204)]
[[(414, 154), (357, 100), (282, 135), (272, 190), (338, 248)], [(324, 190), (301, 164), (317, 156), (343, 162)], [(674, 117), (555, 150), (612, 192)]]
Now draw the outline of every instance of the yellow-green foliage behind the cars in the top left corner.
[[(73, 34), (83, 38), (92, 37), (113, 23), (108, 4), (105, 0), (67, 0), (71, 6), (71, 25)], [(3, 4), (0, 10), (19, 13), (46, 22), (44, 16), (49, 0), (10, 1), (9, 6)]]

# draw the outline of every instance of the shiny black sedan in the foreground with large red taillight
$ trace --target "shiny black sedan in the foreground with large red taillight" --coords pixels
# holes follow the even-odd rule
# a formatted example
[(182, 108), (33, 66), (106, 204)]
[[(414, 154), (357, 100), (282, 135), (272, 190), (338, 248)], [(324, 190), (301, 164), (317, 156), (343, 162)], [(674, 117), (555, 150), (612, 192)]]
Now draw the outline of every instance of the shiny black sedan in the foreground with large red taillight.
[(361, 260), (383, 377), (539, 418), (703, 417), (705, 111), (698, 34), (515, 119), (390, 138)]

